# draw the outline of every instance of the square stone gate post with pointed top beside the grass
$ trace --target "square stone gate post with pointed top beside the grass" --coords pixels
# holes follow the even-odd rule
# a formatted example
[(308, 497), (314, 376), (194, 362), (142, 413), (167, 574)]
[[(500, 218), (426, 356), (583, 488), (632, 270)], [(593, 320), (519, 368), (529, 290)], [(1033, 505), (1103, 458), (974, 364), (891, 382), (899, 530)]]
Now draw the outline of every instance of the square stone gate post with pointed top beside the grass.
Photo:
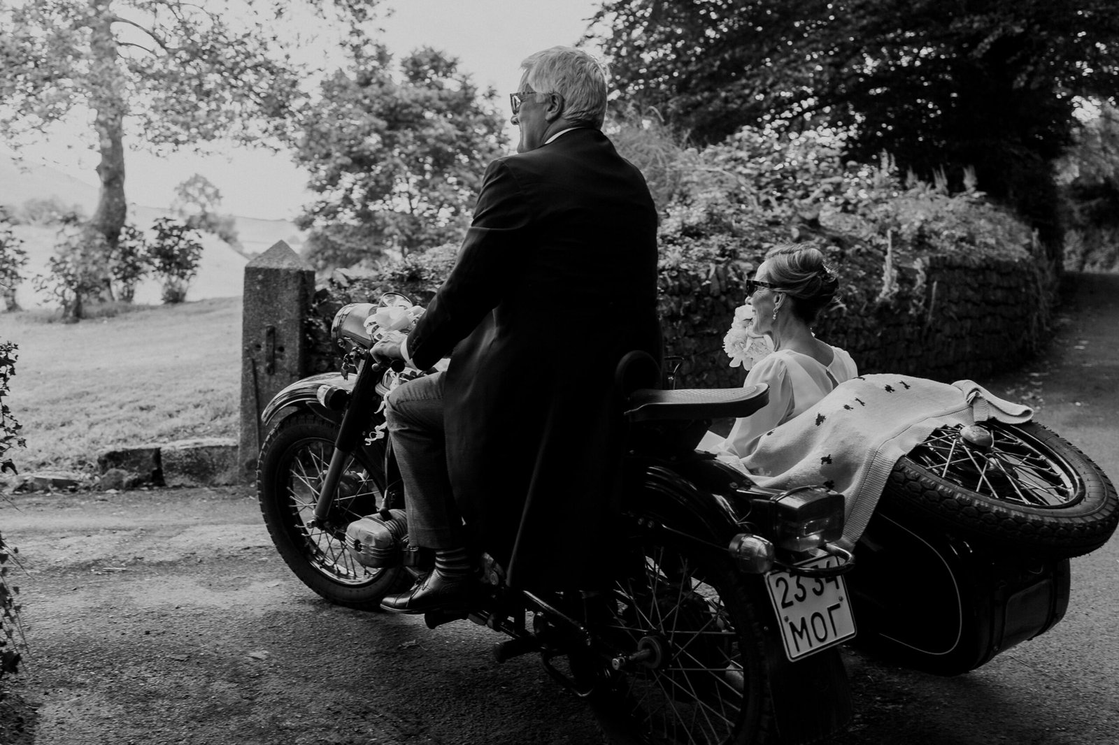
[(245, 265), (237, 451), (245, 480), (252, 479), (256, 468), (263, 435), (261, 412), (308, 368), (310, 340), (303, 319), (313, 294), (314, 271), (283, 241)]

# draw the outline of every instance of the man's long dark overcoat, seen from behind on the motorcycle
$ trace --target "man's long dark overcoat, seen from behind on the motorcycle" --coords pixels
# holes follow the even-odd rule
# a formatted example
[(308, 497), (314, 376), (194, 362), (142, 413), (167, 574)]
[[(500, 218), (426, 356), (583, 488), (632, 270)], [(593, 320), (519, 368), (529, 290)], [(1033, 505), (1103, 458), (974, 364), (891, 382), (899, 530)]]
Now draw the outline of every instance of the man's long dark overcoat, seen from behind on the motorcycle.
[(587, 584), (618, 496), (613, 372), (660, 360), (657, 215), (641, 172), (576, 129), (486, 170), (458, 262), (408, 338), (445, 372), (448, 470), (513, 585)]

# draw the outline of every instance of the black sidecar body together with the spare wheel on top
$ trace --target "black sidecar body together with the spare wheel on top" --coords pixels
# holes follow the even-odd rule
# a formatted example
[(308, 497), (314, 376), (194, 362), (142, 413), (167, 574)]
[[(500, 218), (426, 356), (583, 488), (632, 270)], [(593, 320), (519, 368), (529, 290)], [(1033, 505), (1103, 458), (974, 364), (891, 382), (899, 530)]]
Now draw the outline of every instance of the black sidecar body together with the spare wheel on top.
[(848, 575), (858, 643), (938, 675), (1052, 629), (1069, 605), (1069, 558), (1119, 521), (1111, 481), (1056, 433), (974, 430), (938, 430), (894, 466)]

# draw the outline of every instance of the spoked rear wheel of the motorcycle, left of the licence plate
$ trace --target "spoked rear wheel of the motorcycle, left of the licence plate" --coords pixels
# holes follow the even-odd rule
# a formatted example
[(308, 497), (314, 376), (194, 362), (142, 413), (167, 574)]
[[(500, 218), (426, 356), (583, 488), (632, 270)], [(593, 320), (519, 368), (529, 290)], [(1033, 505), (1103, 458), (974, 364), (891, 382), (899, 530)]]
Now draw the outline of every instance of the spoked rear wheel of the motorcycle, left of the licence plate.
[[(595, 632), (647, 664), (580, 666), (608, 742), (751, 743), (775, 739), (767, 635), (727, 557), (665, 534), (638, 531), (632, 567), (615, 582)], [(592, 616), (593, 617), (593, 616)], [(714, 632), (714, 633), (713, 633)]]

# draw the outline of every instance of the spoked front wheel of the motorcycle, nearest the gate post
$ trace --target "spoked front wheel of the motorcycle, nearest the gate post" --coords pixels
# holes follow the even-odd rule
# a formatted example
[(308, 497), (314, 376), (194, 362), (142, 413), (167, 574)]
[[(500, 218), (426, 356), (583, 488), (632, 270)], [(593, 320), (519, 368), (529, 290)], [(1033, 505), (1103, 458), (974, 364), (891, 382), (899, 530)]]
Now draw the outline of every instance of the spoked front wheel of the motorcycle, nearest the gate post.
[(346, 550), (345, 535), (347, 525), (383, 506), (383, 460), (358, 451), (339, 480), (328, 529), (308, 525), (337, 434), (336, 425), (313, 414), (283, 419), (261, 447), (256, 497), (272, 541), (303, 584), (331, 603), (377, 610), (382, 597), (406, 582), (406, 572), (358, 564)]

